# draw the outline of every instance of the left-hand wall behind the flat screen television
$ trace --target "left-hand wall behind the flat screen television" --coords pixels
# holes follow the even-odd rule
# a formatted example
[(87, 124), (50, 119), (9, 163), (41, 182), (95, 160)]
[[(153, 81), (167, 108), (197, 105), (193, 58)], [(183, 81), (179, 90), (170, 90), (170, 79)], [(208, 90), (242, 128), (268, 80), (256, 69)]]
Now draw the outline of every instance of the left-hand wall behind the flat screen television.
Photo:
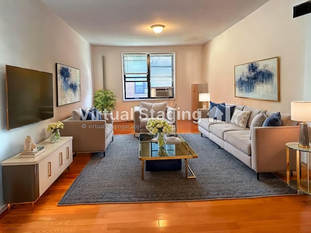
[[(80, 106), (92, 105), (92, 56), (89, 43), (41, 1), (0, 0), (0, 161), (23, 150), (27, 135), (38, 143), (49, 137), (46, 128), (50, 122), (65, 119)], [(80, 69), (81, 102), (56, 106), (55, 63)], [(53, 74), (52, 119), (7, 131), (5, 65)], [(0, 171), (0, 212), (4, 207), (1, 174)]]

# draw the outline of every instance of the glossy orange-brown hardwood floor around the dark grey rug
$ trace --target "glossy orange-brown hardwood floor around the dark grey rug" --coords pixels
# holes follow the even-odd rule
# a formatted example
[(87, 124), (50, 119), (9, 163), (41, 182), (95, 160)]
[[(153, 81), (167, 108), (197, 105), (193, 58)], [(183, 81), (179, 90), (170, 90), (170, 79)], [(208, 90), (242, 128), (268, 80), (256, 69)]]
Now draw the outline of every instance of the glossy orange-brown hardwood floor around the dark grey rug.
[[(178, 133), (199, 133), (191, 121), (177, 124)], [(114, 132), (133, 133), (133, 122), (117, 123)], [(74, 156), (70, 170), (35, 202), (34, 210), (20, 204), (0, 219), (0, 233), (311, 233), (309, 195), (57, 206), (90, 157)]]

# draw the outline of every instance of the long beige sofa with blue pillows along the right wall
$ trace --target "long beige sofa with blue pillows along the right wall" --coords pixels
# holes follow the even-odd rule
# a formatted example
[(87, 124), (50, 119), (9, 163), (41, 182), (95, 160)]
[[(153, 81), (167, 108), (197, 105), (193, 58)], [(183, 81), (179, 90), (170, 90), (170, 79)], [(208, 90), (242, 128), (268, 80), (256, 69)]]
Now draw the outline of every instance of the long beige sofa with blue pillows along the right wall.
[[(225, 103), (211, 104), (210, 109), (199, 109), (198, 129), (201, 136), (209, 138), (256, 171), (258, 180), (262, 172), (286, 171), (285, 144), (299, 140), (298, 122), (291, 120), (290, 114), (232, 104), (226, 104), (224, 111)], [(219, 112), (221, 115), (217, 116)], [(237, 121), (243, 121), (243, 117), (236, 117), (235, 112), (244, 115), (242, 126)], [(248, 117), (245, 112), (249, 112)], [(267, 126), (262, 126), (269, 116), (269, 119), (278, 116), (279, 126), (269, 126), (267, 123)]]

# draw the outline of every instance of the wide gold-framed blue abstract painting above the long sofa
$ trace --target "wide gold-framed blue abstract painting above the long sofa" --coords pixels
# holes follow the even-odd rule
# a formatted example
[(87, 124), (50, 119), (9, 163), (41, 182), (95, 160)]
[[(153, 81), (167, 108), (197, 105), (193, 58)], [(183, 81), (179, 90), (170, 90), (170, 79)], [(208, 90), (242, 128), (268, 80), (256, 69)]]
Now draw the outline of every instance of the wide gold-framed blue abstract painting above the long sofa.
[(234, 67), (235, 97), (279, 101), (279, 57)]

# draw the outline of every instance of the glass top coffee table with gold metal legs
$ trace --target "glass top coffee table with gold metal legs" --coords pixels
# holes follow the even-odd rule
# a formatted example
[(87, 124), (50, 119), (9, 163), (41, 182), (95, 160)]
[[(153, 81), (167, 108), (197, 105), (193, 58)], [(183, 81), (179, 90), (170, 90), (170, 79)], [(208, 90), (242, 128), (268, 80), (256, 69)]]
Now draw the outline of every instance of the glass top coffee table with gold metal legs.
[[(159, 146), (155, 140), (155, 135), (149, 133), (139, 134), (139, 160), (141, 160), (141, 180), (144, 179), (144, 160), (176, 160), (184, 159), (186, 164), (186, 178), (195, 178), (193, 171), (188, 165), (188, 159), (198, 157), (197, 153), (179, 135), (168, 136), (168, 141), (164, 150), (158, 151)], [(188, 175), (188, 170), (192, 174)]]

